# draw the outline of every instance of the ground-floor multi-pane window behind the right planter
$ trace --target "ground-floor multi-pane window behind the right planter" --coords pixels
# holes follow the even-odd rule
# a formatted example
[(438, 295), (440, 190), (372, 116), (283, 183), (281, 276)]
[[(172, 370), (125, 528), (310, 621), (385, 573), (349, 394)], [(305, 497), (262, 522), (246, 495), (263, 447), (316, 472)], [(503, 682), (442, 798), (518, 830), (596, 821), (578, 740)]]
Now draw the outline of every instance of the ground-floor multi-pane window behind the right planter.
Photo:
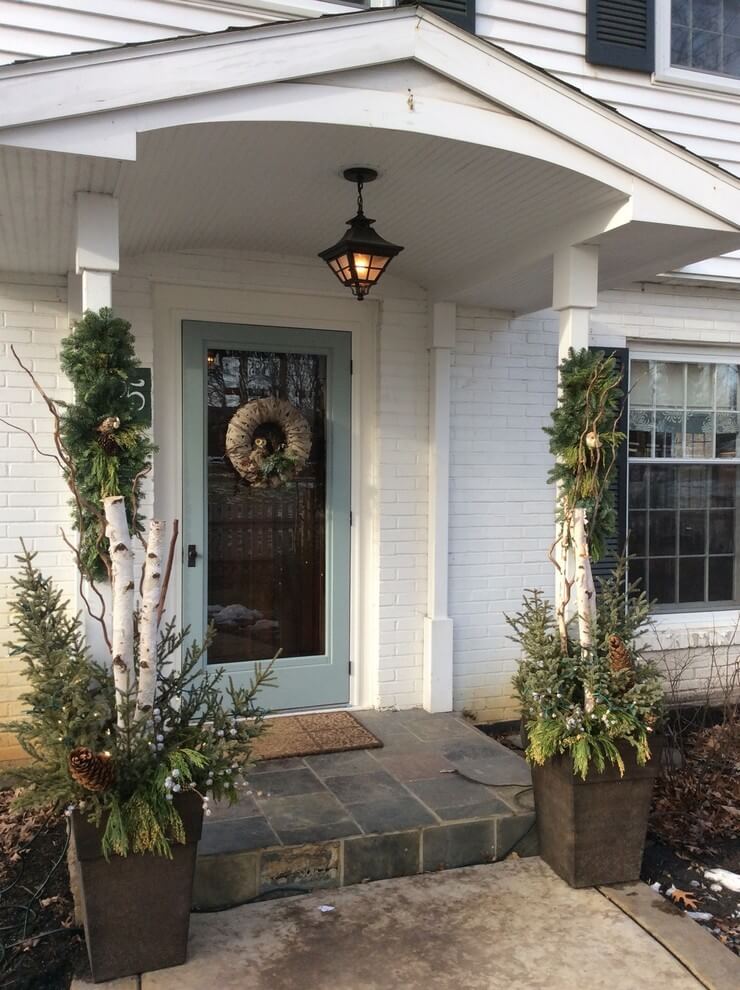
[(740, 598), (735, 364), (630, 361), (630, 580), (663, 611)]

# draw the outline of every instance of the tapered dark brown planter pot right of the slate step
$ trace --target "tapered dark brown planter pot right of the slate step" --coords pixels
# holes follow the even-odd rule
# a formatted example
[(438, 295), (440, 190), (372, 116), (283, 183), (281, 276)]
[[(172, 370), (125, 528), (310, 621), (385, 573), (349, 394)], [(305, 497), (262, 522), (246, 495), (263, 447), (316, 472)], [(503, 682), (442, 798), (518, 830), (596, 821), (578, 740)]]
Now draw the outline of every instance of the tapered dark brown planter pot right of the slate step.
[(532, 767), (540, 856), (571, 887), (639, 879), (662, 739), (654, 737), (651, 748), (641, 767), (634, 749), (619, 745), (623, 777), (607, 766), (582, 780), (569, 756)]

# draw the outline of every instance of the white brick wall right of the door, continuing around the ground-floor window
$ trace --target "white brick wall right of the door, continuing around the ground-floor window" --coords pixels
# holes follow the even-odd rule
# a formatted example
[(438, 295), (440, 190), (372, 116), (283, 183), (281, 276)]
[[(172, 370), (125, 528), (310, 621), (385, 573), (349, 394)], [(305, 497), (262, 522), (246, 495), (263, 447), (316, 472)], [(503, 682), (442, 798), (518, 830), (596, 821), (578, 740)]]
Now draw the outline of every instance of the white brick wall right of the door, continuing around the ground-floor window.
[[(450, 518), (455, 706), (482, 719), (516, 716), (510, 677), (517, 651), (504, 613), (524, 589), (553, 588), (546, 554), (554, 494), (545, 482), (541, 427), (555, 401), (557, 333), (551, 312), (509, 321), (469, 310), (458, 318)], [(652, 285), (604, 293), (592, 339), (612, 347), (646, 340), (666, 348), (732, 346), (740, 362), (740, 291)], [(673, 645), (724, 642), (735, 616), (662, 616), (661, 635)], [(683, 693), (704, 693), (712, 670), (711, 650), (695, 649)]]

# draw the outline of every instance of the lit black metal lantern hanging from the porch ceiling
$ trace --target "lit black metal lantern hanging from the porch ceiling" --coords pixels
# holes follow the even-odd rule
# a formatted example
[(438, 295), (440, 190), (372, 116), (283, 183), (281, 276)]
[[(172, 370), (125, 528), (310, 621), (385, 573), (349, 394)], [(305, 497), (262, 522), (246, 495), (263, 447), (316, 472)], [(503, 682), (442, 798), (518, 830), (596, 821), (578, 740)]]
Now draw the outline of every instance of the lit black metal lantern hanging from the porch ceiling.
[(362, 190), (366, 182), (377, 179), (373, 168), (348, 168), (344, 177), (357, 185), (357, 214), (347, 221), (349, 230), (333, 247), (319, 252), (342, 285), (351, 289), (358, 299), (364, 299), (380, 279), (391, 258), (403, 251), (373, 230), (375, 223), (363, 211)]

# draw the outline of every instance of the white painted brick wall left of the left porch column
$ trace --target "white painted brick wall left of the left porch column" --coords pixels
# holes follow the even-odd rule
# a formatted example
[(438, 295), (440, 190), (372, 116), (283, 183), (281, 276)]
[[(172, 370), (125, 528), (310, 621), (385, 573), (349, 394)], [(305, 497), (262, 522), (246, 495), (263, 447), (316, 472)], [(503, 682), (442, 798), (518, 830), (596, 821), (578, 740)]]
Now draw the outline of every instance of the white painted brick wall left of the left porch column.
[[(55, 276), (0, 275), (0, 417), (33, 433), (42, 450), (52, 450), (52, 431), (46, 406), (11, 351), (34, 372), (50, 394), (70, 397), (59, 372), (59, 343), (67, 332), (66, 279)], [(18, 660), (7, 657), (10, 636), (8, 602), (14, 555), (20, 539), (38, 551), (37, 563), (70, 597), (74, 574), (69, 553), (59, 536), (68, 520), (67, 489), (53, 461), (34, 451), (30, 439), (0, 423), (0, 763), (20, 750), (3, 723), (20, 712), (22, 677)]]

